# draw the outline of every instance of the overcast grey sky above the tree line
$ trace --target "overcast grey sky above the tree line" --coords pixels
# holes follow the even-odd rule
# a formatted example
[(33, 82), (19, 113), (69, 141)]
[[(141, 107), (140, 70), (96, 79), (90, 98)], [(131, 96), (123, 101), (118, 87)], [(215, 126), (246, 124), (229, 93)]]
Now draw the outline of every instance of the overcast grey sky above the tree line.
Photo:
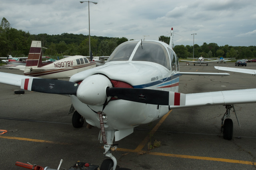
[[(256, 46), (255, 0), (93, 0), (90, 35), (158, 40), (174, 28), (174, 45)], [(89, 34), (88, 2), (0, 0), (0, 19), (30, 34)]]

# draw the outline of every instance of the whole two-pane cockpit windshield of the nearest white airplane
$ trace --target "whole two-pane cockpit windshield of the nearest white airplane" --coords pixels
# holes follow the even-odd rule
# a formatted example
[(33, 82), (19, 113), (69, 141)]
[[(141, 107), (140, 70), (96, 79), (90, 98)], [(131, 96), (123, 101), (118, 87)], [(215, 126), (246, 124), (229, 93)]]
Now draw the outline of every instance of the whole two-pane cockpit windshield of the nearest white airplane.
[[(106, 62), (128, 60), (148, 61), (161, 64), (168, 68), (168, 70), (171, 69), (168, 52), (162, 44), (154, 41), (142, 41), (136, 47), (139, 42), (140, 41), (128, 41), (119, 45)], [(134, 48), (137, 48), (136, 52)]]

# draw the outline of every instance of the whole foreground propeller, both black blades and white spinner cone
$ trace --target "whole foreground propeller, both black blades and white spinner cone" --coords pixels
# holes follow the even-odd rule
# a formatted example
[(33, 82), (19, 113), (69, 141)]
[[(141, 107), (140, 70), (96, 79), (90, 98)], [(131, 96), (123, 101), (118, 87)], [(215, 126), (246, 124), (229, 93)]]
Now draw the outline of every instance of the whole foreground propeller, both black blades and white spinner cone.
[(185, 105), (185, 94), (144, 88), (113, 88), (110, 80), (101, 74), (89, 76), (81, 84), (64, 80), (26, 78), (22, 79), (22, 89), (50, 93), (76, 95), (89, 105), (102, 105), (111, 97), (156, 105)]

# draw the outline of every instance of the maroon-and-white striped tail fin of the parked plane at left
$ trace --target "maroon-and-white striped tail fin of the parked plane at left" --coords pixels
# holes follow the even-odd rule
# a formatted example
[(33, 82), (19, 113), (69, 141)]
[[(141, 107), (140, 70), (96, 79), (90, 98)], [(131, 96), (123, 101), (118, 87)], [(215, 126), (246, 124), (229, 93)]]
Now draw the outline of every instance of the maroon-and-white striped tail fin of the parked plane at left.
[(32, 41), (26, 67), (41, 67), (42, 65), (42, 46), (41, 41)]

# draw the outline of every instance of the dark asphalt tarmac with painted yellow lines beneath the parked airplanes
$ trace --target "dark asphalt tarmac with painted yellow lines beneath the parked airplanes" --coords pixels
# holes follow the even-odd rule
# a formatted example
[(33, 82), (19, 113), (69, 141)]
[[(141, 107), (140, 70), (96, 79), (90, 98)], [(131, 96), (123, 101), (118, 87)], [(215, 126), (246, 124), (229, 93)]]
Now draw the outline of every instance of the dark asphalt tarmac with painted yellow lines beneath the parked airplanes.
[[(214, 66), (235, 67), (234, 63), (193, 66), (180, 63), (181, 72), (224, 72)], [(256, 63), (247, 67), (256, 69)], [(22, 74), (0, 66), (0, 72)], [(181, 76), (180, 92), (196, 93), (255, 88), (256, 76)], [(99, 165), (105, 159), (98, 128), (72, 126), (68, 96), (25, 91), (0, 84), (0, 169), (25, 170), (15, 162), (29, 162), (57, 169), (69, 169), (76, 161)], [(238, 96), (239, 97), (239, 96)], [(118, 165), (131, 170), (249, 170), (256, 169), (255, 104), (234, 105), (241, 127), (232, 113), (234, 136), (224, 140), (220, 133), (225, 106), (204, 106), (171, 110), (161, 120), (138, 126), (134, 133), (118, 141), (112, 154)], [(17, 130), (11, 132), (10, 130)], [(160, 142), (148, 150), (148, 142)]]

